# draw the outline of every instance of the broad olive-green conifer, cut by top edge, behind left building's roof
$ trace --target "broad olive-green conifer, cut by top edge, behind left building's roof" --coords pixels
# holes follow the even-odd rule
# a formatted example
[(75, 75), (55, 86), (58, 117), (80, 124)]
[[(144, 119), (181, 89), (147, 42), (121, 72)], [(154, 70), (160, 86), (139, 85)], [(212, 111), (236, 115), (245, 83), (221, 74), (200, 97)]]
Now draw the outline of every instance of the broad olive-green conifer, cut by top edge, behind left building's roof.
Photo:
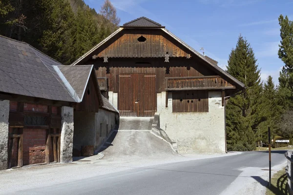
[(39, 40), (42, 51), (61, 63), (69, 64), (73, 57), (76, 26), (70, 4), (65, 0), (43, 0), (42, 7), (42, 23), (47, 26)]

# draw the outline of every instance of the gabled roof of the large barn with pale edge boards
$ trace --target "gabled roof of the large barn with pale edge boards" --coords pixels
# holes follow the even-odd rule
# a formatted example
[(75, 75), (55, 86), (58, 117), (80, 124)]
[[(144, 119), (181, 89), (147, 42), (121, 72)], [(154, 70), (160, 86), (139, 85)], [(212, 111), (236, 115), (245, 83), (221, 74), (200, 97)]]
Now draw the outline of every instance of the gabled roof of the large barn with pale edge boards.
[[(141, 17), (138, 18), (136, 20), (132, 20), (130, 22), (125, 23), (123, 26), (121, 26), (118, 30), (116, 30), (114, 33), (112, 33), (111, 35), (109, 35), (106, 39), (102, 40), (99, 44), (97, 44), (96, 46), (94, 46), (91, 50), (89, 50), (88, 52), (86, 52), (82, 57), (80, 57), (79, 59), (75, 60), (71, 65), (76, 65), (78, 64), (80, 61), (82, 61), (85, 57), (87, 57), (88, 55), (90, 55), (92, 52), (94, 52), (95, 50), (97, 50), (100, 46), (102, 46), (105, 42), (107, 42), (109, 39), (113, 38), (115, 35), (117, 35), (119, 32), (123, 31), (124, 28), (127, 27), (146, 27), (146, 26), (131, 26), (131, 22), (136, 22), (137, 20), (141, 20), (141, 19), (147, 19), (145, 17)], [(148, 21), (152, 21), (147, 19)], [(154, 21), (152, 21), (154, 22)], [(157, 22), (155, 22), (157, 23)], [(135, 24), (135, 23), (134, 23)], [(158, 24), (158, 23), (157, 23)], [(130, 25), (130, 26), (127, 26)], [(133, 24), (132, 24), (133, 25)], [(159, 24), (161, 25), (161, 24)], [(155, 24), (154, 24), (155, 27)], [(157, 27), (160, 27), (157, 25)], [(203, 56), (202, 54), (200, 54), (199, 52), (197, 52), (195, 49), (193, 49), (192, 47), (190, 47), (187, 43), (185, 43), (183, 40), (179, 39), (178, 37), (176, 37), (173, 33), (171, 33), (170, 31), (168, 31), (164, 26), (161, 26), (160, 29), (162, 29), (162, 31), (164, 31), (167, 35), (169, 35), (170, 37), (172, 37), (173, 39), (175, 39), (177, 42), (179, 42), (181, 45), (183, 45), (184, 47), (186, 47), (189, 51), (191, 51), (193, 54), (195, 54), (196, 56), (198, 56), (200, 59), (204, 60), (213, 70), (215, 70), (216, 72), (218, 72), (221, 75), (226, 76), (227, 78), (230, 78), (232, 81), (234, 81), (239, 87), (244, 88), (244, 84), (242, 82), (240, 82), (239, 80), (237, 80), (236, 78), (232, 77), (228, 72), (224, 71), (223, 69), (221, 69), (219, 66), (213, 64), (210, 60), (206, 59), (205, 56)]]

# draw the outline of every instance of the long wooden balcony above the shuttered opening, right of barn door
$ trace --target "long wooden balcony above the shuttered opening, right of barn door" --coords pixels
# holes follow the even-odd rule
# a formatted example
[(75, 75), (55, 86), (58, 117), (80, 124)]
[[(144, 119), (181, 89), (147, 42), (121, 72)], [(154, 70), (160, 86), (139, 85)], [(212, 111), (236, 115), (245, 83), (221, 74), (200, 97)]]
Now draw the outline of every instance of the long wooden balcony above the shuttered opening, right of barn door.
[(235, 89), (235, 86), (219, 76), (166, 78), (166, 91), (209, 89)]

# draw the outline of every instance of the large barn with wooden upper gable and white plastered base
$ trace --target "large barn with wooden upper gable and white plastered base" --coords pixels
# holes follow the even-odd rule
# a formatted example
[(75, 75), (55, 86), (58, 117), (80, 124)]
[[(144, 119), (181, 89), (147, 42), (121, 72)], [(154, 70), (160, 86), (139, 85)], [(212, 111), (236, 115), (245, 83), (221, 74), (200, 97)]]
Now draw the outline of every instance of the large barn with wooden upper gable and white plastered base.
[(125, 23), (72, 65), (84, 64), (121, 117), (159, 114), (179, 153), (226, 151), (225, 99), (244, 84), (161, 24)]

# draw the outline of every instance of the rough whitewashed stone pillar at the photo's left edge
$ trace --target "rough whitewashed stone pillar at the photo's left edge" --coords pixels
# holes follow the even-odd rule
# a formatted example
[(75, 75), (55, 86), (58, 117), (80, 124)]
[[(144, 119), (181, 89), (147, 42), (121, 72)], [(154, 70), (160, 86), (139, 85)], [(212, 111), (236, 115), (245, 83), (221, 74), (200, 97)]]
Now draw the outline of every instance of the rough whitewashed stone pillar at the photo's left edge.
[(8, 168), (9, 100), (0, 100), (0, 170)]

